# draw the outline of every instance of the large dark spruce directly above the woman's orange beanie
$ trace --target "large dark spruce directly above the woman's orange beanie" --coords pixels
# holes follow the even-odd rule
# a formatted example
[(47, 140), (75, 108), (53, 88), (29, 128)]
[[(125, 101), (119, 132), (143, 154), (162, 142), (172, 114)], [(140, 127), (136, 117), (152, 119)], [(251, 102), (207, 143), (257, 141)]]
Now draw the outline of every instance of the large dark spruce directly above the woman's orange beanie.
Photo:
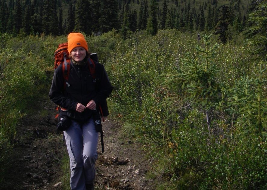
[[(75, 9), (75, 32), (92, 33), (92, 12), (89, 0), (77, 0)], [(104, 14), (104, 12), (103, 12)]]

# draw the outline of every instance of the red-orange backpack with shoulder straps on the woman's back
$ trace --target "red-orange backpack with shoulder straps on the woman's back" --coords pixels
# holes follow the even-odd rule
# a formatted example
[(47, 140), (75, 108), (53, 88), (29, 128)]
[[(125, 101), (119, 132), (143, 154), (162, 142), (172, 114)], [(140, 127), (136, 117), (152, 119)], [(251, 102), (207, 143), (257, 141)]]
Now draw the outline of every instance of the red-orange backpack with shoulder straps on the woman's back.
[[(69, 56), (70, 56), (70, 54), (68, 52), (68, 43), (65, 42), (65, 43), (59, 44), (57, 47), (57, 50), (54, 53), (54, 60), (55, 60), (54, 61), (54, 69), (56, 70), (59, 65), (64, 63), (62, 65), (62, 72), (63, 72), (64, 81), (65, 81), (64, 82), (64, 89), (66, 88), (66, 81), (69, 78), (69, 71), (70, 71), (70, 58), (69, 58)], [(96, 78), (95, 62), (91, 58), (94, 58), (94, 60), (98, 61), (97, 53), (92, 53), (90, 55), (90, 58), (88, 58), (88, 61), (89, 61), (88, 67), (89, 67), (89, 70), (91, 72), (93, 79), (95, 79)]]

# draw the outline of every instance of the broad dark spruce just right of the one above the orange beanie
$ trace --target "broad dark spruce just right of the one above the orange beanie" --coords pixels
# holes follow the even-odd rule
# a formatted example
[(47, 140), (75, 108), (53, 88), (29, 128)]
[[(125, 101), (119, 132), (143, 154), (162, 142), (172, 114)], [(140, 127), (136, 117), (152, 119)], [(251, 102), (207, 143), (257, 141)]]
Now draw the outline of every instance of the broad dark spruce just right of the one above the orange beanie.
[(118, 5), (116, 0), (103, 0), (100, 12), (99, 25), (101, 32), (118, 29)]

